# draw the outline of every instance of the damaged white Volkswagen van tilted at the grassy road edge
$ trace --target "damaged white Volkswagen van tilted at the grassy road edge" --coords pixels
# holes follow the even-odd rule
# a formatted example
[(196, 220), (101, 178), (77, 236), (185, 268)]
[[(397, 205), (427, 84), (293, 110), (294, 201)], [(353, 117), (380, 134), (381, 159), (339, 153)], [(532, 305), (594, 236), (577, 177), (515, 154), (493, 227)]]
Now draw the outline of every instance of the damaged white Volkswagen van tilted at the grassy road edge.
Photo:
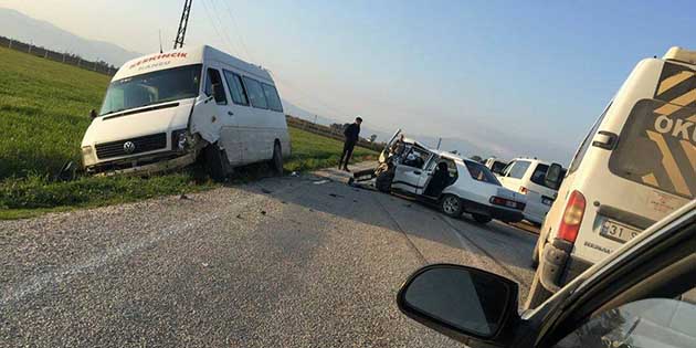
[(147, 175), (198, 159), (213, 179), (260, 161), (281, 173), (291, 150), (268, 72), (210, 46), (127, 62), (92, 117), (82, 140), (88, 173)]

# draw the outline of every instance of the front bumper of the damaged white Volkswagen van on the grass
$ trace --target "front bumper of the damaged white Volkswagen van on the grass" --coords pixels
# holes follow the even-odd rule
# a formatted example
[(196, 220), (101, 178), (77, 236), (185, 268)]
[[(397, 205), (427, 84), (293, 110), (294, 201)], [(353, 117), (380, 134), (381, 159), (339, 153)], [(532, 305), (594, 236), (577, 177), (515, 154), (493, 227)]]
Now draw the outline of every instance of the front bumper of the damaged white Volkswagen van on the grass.
[(188, 152), (167, 151), (157, 156), (143, 156), (110, 162), (102, 162), (86, 167), (85, 170), (94, 176), (147, 176), (161, 171), (183, 168), (196, 162), (198, 150)]

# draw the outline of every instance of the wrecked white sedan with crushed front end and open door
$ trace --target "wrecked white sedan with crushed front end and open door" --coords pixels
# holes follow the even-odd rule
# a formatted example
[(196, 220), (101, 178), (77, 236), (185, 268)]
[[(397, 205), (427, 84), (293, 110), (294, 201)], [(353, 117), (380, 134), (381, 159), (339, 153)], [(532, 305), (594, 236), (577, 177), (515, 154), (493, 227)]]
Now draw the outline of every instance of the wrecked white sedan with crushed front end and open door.
[[(357, 172), (356, 178), (363, 176)], [(398, 191), (437, 204), (449, 217), (470, 213), (479, 223), (492, 219), (517, 222), (523, 219), (524, 194), (500, 186), (484, 165), (456, 155), (433, 150), (397, 131), (376, 170), (376, 187)]]

